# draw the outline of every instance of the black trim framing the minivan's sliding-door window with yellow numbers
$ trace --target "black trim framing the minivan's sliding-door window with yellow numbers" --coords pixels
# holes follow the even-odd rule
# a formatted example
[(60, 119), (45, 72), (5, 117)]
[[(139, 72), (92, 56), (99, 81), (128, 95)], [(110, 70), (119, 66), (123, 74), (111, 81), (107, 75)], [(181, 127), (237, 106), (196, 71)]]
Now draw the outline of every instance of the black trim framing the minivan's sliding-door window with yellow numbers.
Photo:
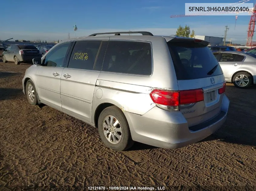
[[(71, 46), (71, 48), (70, 48), (70, 51), (69, 51), (69, 53), (68, 53), (68, 58), (66, 59), (66, 64), (65, 64), (65, 67), (64, 67), (64, 68), (68, 68), (68, 64), (69, 64), (69, 61), (70, 61), (71, 53), (73, 52), (73, 49), (74, 49), (74, 47), (75, 47), (75, 44), (76, 44), (76, 42), (78, 42), (78, 41), (101, 41), (101, 44), (100, 44), (100, 46), (99, 46), (98, 53), (97, 53), (97, 56), (98, 56), (98, 54), (99, 54), (100, 51), (101, 51), (102, 42), (103, 42), (103, 41), (107, 41), (107, 42), (108, 42), (109, 39), (78, 39), (78, 40), (74, 40), (74, 41), (73, 41), (73, 44), (72, 44), (72, 46)], [(105, 49), (104, 58), (105, 58), (106, 51), (107, 51), (107, 48)], [(97, 58), (97, 57), (96, 57), (96, 58)], [(94, 61), (94, 65), (93, 65), (93, 69), (92, 69), (92, 70), (89, 70), (89, 69), (79, 69), (79, 68), (68, 68), (68, 69), (72, 69), (72, 70), (84, 70), (84, 71), (91, 71), (91, 72), (101, 72), (101, 70), (100, 70), (100, 71), (99, 71), (99, 70), (94, 70), (95, 64), (97, 63), (97, 59), (96, 59), (96, 58), (95, 58), (95, 61)], [(103, 61), (102, 61), (102, 63), (101, 63), (101, 69), (102, 69), (102, 66), (103, 66), (103, 62), (104, 62), (104, 59), (103, 59)]]

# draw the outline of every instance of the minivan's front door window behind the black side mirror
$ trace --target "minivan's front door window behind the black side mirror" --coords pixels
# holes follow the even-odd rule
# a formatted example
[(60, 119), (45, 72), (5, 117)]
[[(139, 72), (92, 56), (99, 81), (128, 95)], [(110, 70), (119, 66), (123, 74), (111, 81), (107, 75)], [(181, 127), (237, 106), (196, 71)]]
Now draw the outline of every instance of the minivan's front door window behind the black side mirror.
[(44, 66), (64, 67), (65, 57), (71, 42), (60, 44), (52, 49), (43, 61)]

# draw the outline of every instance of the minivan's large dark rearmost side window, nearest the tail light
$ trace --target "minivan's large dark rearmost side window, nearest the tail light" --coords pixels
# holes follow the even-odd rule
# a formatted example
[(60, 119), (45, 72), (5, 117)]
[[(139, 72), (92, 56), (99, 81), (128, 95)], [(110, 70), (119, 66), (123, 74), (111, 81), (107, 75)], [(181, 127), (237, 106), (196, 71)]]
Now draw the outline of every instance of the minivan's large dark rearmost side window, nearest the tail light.
[(102, 71), (151, 75), (151, 44), (135, 41), (109, 41)]

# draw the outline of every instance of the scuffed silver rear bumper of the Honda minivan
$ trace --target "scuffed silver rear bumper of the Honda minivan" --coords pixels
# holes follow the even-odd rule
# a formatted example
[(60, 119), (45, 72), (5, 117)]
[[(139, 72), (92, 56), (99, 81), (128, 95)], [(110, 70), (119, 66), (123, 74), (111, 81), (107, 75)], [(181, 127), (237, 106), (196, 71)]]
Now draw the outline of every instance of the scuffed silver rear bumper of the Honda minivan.
[(228, 97), (223, 95), (221, 113), (197, 127), (194, 126), (194, 129), (188, 128), (186, 119), (179, 111), (170, 112), (154, 107), (143, 116), (128, 112), (124, 114), (134, 141), (160, 148), (175, 149), (198, 142), (213, 134), (226, 121), (228, 107)]

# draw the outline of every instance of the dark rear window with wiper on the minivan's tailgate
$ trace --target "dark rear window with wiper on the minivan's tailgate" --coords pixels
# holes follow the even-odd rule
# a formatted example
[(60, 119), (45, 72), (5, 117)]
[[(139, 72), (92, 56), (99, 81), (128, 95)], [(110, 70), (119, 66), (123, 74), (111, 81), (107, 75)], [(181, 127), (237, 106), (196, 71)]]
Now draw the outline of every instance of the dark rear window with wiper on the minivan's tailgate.
[(206, 46), (168, 42), (177, 80), (192, 80), (221, 75), (221, 67)]

